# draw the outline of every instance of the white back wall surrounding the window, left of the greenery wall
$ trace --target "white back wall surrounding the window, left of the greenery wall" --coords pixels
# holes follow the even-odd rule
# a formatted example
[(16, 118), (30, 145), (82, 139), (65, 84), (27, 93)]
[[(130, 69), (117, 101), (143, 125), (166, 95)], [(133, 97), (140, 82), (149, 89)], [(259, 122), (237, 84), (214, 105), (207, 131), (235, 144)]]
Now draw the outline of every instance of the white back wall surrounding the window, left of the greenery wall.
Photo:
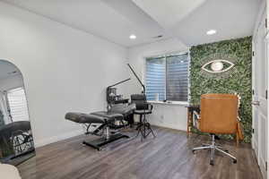
[[(144, 58), (152, 55), (163, 55), (171, 52), (185, 52), (188, 48), (177, 38), (158, 41), (152, 44), (131, 47), (128, 49), (128, 63), (134, 67), (137, 75), (143, 79)], [(140, 93), (142, 88), (134, 75), (128, 86), (129, 94)], [(151, 124), (187, 131), (187, 108), (186, 104), (153, 104), (153, 114), (149, 115)]]

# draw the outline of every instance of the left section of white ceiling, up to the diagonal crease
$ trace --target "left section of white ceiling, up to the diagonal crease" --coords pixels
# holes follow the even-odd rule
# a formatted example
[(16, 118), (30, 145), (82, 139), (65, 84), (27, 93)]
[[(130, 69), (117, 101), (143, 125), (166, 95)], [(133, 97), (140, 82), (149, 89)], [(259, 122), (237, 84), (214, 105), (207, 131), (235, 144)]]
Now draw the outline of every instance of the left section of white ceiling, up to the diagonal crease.
[[(131, 0), (4, 0), (125, 47), (156, 41), (161, 26)], [(135, 34), (135, 40), (129, 39)]]

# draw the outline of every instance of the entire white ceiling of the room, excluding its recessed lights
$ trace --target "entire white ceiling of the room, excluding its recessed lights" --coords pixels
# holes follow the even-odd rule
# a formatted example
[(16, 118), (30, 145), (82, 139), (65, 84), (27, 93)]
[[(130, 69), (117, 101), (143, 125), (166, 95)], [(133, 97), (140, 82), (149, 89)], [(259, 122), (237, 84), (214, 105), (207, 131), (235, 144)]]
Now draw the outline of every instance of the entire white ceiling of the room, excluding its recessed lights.
[[(263, 0), (2, 0), (124, 47), (178, 38), (187, 46), (253, 33)], [(207, 36), (207, 30), (217, 34)], [(129, 39), (135, 34), (135, 40)], [(153, 38), (163, 35), (163, 38)]]

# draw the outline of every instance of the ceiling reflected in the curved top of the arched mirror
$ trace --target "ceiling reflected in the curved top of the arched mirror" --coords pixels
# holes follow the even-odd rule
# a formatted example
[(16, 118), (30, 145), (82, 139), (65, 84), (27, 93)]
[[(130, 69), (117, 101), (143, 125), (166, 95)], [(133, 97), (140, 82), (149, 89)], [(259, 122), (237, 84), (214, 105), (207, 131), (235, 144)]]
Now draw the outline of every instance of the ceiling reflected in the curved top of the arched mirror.
[(0, 80), (15, 75), (22, 75), (22, 73), (14, 64), (0, 60)]

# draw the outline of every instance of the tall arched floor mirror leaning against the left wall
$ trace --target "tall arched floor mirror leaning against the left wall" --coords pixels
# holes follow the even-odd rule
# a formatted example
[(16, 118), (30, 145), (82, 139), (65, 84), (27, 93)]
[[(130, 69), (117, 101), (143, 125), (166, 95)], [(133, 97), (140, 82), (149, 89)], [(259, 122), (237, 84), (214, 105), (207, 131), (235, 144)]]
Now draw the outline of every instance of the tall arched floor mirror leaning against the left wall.
[(18, 166), (35, 156), (22, 72), (0, 60), (0, 162)]

